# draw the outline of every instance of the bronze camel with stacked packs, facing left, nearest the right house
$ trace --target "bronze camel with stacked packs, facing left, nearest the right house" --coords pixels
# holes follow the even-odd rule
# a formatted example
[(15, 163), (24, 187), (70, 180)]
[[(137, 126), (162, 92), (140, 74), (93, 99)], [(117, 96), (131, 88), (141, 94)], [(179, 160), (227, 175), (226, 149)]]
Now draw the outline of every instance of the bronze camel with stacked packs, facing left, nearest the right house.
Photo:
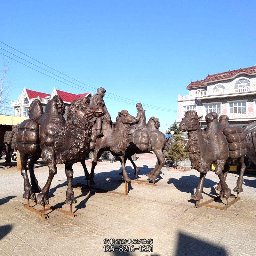
[[(207, 128), (204, 132), (199, 122), (201, 118), (202, 116), (199, 117), (196, 111), (187, 111), (180, 122), (180, 131), (188, 132), (189, 157), (192, 165), (200, 172), (200, 181), (196, 193), (191, 196), (191, 199), (203, 198), (204, 178), (212, 163), (216, 164), (215, 173), (220, 179), (220, 197), (229, 198), (231, 190), (225, 181), (222, 168), (224, 165), (227, 166), (229, 159), (241, 158), (246, 155), (246, 148), (242, 147), (245, 136), (239, 128), (231, 129), (220, 124), (215, 112), (205, 116)], [(236, 133), (235, 136), (233, 131)], [(232, 140), (234, 142), (231, 142)], [(245, 168), (245, 165), (242, 168)], [(243, 182), (237, 182), (237, 187), (234, 190), (242, 191), (242, 184)]]

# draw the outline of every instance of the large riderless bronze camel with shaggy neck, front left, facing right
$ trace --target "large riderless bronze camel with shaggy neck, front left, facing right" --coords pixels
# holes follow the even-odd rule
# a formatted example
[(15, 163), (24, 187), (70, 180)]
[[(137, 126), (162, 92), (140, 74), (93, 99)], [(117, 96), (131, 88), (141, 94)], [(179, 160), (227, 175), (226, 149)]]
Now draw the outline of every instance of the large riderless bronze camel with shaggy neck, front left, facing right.
[[(31, 112), (33, 110), (32, 106)], [(67, 122), (63, 117), (64, 113), (63, 101), (59, 96), (53, 96), (46, 104), (44, 114), (36, 118), (36, 121), (31, 117), (23, 121), (16, 134), (17, 149), (21, 158), (21, 175), (24, 178), (23, 197), (34, 198), (33, 193), (41, 192), (36, 197), (40, 205), (49, 204), (47, 194), (57, 173), (56, 165), (63, 163), (68, 180), (65, 203), (76, 203), (72, 188), (72, 164), (80, 161), (89, 152), (92, 134), (92, 123), (89, 120), (105, 114), (102, 107), (89, 105), (86, 97), (72, 102), (68, 108)], [(32, 155), (29, 162), (31, 184), (27, 174), (28, 155)], [(49, 167), (49, 176), (42, 189), (38, 186), (33, 170), (34, 163), (40, 156)]]

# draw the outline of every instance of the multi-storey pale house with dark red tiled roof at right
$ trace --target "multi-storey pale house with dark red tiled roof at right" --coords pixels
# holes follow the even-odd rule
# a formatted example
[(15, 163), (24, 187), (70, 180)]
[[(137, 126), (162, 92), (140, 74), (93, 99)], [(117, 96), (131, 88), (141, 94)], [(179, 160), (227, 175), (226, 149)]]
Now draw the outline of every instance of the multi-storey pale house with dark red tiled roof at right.
[(256, 120), (256, 66), (207, 75), (186, 88), (189, 94), (178, 96), (178, 123), (188, 110), (203, 116), (203, 127), (210, 112), (228, 115), (231, 126), (243, 127)]

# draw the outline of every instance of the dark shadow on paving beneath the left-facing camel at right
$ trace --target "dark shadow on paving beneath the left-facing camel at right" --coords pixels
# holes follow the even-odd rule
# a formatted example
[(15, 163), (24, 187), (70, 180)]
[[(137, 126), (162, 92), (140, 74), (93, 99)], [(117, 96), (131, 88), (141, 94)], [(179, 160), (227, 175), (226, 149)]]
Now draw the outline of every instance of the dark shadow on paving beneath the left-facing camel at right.
[[(199, 177), (197, 177), (194, 174), (190, 174), (190, 175), (184, 175), (184, 176), (180, 177), (179, 179), (170, 178), (167, 181), (167, 183), (173, 184), (175, 186), (175, 188), (179, 189), (181, 192), (191, 193), (191, 195), (194, 195), (194, 189), (197, 188), (198, 181), (199, 181)], [(205, 178), (204, 179), (204, 188), (211, 188), (211, 192), (210, 192), (210, 194), (208, 194), (208, 193), (205, 193), (203, 190), (202, 193), (204, 193), (205, 195), (211, 196), (211, 197), (215, 197), (218, 194), (215, 191), (214, 186), (218, 185), (218, 184), (219, 183), (217, 183), (215, 181)], [(192, 199), (190, 199), (190, 200), (192, 200)], [(188, 202), (190, 202), (190, 200), (188, 200)], [(191, 202), (194, 202), (194, 200), (192, 200)]]

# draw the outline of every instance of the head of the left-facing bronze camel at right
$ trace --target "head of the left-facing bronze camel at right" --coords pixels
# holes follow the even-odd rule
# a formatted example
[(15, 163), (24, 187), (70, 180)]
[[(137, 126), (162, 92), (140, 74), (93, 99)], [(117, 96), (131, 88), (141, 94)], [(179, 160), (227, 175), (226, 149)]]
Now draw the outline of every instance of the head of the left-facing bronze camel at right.
[(180, 131), (181, 132), (189, 132), (196, 131), (200, 128), (200, 120), (202, 116), (198, 116), (196, 111), (189, 110), (185, 113), (185, 117), (182, 118), (180, 122)]

